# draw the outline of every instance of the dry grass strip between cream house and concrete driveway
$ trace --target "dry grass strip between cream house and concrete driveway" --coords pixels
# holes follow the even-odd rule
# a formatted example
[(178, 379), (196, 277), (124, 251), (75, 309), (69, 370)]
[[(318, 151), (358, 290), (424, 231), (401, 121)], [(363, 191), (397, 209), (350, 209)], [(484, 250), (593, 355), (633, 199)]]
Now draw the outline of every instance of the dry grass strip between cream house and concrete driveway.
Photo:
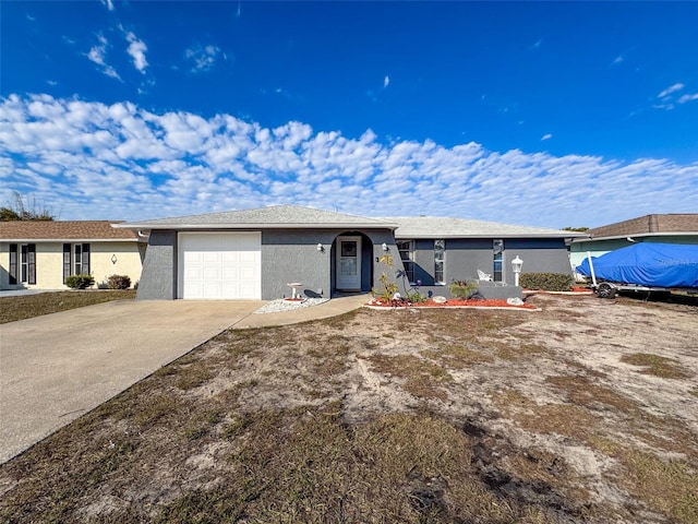
[(84, 308), (111, 300), (133, 300), (134, 289), (91, 289), (40, 293), (19, 297), (0, 297), (0, 324), (17, 320), (57, 313), (69, 309)]

